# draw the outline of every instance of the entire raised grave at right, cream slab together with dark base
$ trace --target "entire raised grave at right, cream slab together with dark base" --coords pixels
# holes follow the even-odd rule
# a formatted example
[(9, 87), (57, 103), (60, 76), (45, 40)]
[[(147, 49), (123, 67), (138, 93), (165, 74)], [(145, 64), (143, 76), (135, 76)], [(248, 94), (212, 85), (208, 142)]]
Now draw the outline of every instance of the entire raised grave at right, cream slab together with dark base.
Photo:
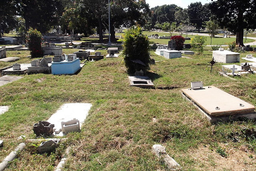
[(198, 107), (212, 124), (241, 118), (256, 118), (254, 106), (215, 86), (203, 86), (194, 90), (182, 89), (182, 96)]

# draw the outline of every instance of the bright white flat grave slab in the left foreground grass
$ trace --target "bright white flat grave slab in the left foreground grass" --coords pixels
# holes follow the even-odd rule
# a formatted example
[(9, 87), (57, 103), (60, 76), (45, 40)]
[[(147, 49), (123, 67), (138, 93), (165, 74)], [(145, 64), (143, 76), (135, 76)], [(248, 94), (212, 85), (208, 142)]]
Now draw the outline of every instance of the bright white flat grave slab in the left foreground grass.
[(67, 122), (74, 118), (79, 121), (79, 128), (81, 128), (91, 107), (90, 103), (67, 103), (60, 106), (56, 113), (48, 119), (48, 122), (54, 124), (54, 135), (63, 136), (61, 122)]

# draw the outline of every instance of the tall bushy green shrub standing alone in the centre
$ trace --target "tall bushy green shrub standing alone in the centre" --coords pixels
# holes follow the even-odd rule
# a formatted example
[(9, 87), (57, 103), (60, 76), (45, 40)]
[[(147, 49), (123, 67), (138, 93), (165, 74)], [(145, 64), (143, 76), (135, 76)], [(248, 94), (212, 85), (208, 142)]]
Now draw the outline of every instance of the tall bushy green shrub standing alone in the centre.
[[(142, 34), (141, 28), (132, 27), (125, 31), (122, 55), (128, 74), (133, 75), (135, 71), (142, 69), (142, 71), (146, 72), (150, 69), (149, 52), (149, 39), (146, 35)], [(142, 61), (146, 66), (132, 62), (132, 60), (136, 59)]]

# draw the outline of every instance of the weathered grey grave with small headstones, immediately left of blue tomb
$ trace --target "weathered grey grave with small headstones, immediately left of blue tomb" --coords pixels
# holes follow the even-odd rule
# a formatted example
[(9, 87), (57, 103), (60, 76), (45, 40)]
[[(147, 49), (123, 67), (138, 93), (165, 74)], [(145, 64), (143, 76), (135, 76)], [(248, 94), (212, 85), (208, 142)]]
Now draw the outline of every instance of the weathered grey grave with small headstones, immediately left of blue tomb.
[[(33, 65), (32, 65), (33, 63)], [(36, 61), (35, 61), (36, 63)], [(51, 70), (51, 63), (48, 63), (48, 59), (46, 57), (43, 57), (43, 59), (39, 62), (39, 65), (34, 65), (34, 62), (31, 62), (31, 67), (28, 67), (28, 75), (30, 74), (37, 74), (37, 73), (44, 73), (44, 74), (50, 74), (52, 73)]]

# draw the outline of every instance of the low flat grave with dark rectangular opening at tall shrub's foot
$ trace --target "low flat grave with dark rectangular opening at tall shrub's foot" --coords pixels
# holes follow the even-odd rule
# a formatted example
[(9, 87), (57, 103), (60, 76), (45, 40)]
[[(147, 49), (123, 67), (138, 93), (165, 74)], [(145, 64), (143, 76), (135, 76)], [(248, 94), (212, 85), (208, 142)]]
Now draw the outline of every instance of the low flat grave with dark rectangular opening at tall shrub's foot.
[(130, 80), (130, 86), (138, 86), (142, 88), (153, 88), (154, 84), (150, 80), (150, 78), (145, 76), (130, 76), (128, 77)]

